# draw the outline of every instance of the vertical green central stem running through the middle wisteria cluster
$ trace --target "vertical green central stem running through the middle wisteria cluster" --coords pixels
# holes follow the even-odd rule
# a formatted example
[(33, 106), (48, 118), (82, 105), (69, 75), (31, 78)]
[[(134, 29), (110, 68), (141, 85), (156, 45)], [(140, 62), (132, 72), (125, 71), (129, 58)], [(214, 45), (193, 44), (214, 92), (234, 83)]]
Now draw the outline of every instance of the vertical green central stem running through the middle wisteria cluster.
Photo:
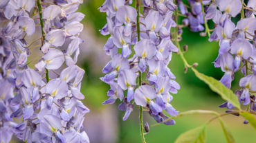
[[(140, 3), (141, 0), (136, 0), (136, 10), (137, 10), (137, 32), (138, 32), (138, 41), (140, 41)], [(142, 85), (142, 73), (139, 71), (138, 76), (138, 85)], [(140, 106), (140, 135), (143, 140), (143, 143), (146, 143), (144, 133), (143, 133), (143, 107)]]

